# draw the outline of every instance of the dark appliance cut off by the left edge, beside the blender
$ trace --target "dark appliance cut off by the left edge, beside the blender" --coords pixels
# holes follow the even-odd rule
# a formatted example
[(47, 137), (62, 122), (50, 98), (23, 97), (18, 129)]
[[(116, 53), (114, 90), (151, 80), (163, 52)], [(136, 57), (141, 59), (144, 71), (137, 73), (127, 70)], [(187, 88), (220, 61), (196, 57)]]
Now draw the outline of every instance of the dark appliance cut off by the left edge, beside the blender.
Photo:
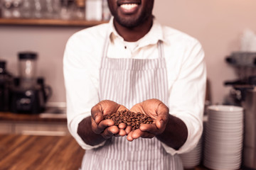
[(6, 70), (6, 61), (0, 60), (0, 111), (9, 110), (10, 86), (11, 74)]

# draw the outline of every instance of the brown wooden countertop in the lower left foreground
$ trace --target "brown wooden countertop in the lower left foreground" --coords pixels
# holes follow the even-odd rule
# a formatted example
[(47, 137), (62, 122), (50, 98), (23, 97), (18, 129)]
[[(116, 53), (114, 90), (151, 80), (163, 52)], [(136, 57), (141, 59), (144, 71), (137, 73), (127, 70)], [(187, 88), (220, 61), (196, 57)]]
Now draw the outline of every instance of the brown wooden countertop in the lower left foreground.
[(0, 135), (1, 170), (79, 169), (84, 153), (71, 136)]

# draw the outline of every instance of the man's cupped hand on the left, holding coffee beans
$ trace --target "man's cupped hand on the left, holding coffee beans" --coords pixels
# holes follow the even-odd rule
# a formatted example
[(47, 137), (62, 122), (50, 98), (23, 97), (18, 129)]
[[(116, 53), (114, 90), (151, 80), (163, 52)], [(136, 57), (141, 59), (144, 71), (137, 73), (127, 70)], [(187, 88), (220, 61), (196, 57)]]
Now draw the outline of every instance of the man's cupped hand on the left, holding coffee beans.
[(92, 120), (92, 131), (96, 134), (102, 135), (105, 139), (114, 136), (124, 136), (127, 135), (124, 128), (126, 125), (121, 123), (119, 127), (114, 125), (114, 121), (111, 119), (103, 120), (104, 115), (110, 115), (117, 111), (128, 110), (122, 105), (115, 103), (114, 101), (100, 101), (91, 110), (91, 120)]

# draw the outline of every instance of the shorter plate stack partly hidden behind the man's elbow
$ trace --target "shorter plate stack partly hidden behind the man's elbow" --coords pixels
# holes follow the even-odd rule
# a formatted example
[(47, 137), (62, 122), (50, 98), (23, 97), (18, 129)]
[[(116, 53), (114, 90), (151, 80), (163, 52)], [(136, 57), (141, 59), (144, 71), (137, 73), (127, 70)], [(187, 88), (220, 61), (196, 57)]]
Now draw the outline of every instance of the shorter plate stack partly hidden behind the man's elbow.
[(194, 149), (192, 149), (190, 152), (180, 154), (181, 161), (183, 164), (183, 167), (185, 169), (193, 169), (199, 164), (201, 164), (201, 157), (202, 157), (202, 138), (199, 140), (198, 144)]

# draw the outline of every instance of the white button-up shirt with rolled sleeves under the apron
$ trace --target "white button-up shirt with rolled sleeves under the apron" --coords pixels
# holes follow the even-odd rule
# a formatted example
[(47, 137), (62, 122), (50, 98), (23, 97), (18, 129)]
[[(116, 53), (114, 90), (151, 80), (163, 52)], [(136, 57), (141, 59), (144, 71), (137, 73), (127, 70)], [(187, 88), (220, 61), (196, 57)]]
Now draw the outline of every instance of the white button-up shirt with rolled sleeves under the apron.
[[(129, 45), (114, 29), (113, 20), (80, 30), (65, 47), (65, 77), (68, 129), (79, 145), (92, 149), (77, 133), (78, 123), (90, 116), (99, 99), (99, 74), (105, 40), (110, 40), (107, 57), (153, 59), (158, 57), (157, 42), (164, 42), (169, 98), (169, 113), (183, 120), (188, 138), (178, 150), (162, 143), (166, 152), (181, 154), (196, 147), (203, 131), (203, 108), (206, 91), (206, 65), (201, 44), (178, 30), (154, 24), (144, 38)], [(132, 47), (132, 50), (131, 50)], [(161, 82), (159, 82), (161, 83)], [(134, 103), (136, 104), (136, 103)]]

